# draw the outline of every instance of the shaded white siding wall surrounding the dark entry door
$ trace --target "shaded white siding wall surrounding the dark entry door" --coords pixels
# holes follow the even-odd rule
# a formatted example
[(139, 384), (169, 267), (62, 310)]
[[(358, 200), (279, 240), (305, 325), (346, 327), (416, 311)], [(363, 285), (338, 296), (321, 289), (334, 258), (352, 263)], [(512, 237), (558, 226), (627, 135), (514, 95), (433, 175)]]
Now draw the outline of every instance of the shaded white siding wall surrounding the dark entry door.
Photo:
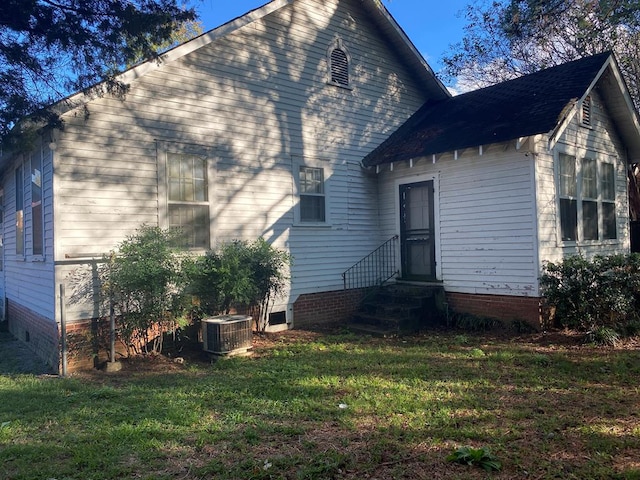
[(381, 223), (400, 233), (400, 184), (424, 176), (435, 182), (438, 273), (450, 292), (536, 295), (536, 221), (533, 157), (515, 142), (394, 165), (381, 173)]

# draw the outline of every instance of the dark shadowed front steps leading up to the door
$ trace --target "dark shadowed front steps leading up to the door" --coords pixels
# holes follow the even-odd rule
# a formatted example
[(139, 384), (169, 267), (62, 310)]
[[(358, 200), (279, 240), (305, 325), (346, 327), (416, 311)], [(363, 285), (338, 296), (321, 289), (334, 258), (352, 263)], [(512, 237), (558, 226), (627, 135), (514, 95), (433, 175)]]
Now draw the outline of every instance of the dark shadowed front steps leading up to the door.
[(356, 332), (394, 336), (440, 324), (444, 318), (442, 284), (398, 281), (367, 296), (348, 326)]

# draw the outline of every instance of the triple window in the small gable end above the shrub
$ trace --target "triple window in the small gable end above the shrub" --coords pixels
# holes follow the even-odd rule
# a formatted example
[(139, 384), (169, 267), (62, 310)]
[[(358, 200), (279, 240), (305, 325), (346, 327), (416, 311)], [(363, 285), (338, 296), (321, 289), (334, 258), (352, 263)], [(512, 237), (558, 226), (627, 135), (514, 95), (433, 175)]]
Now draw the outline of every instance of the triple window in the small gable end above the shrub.
[(617, 238), (614, 165), (564, 153), (558, 160), (562, 241)]

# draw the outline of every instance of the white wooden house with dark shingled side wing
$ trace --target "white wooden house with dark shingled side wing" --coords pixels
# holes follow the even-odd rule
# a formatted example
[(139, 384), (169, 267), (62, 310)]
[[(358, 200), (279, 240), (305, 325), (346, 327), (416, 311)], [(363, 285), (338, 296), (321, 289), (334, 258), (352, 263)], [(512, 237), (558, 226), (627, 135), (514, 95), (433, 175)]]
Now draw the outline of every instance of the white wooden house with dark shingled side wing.
[(396, 235), (400, 277), (533, 320), (544, 260), (628, 251), (640, 158), (610, 54), (545, 72), (452, 98), (379, 1), (253, 10), (123, 73), (122, 97), (60, 104), (62, 130), (1, 159), (9, 328), (57, 367), (61, 307), (89, 334), (97, 262), (142, 224), (196, 252), (290, 252), (274, 329), (346, 319), (343, 273)]

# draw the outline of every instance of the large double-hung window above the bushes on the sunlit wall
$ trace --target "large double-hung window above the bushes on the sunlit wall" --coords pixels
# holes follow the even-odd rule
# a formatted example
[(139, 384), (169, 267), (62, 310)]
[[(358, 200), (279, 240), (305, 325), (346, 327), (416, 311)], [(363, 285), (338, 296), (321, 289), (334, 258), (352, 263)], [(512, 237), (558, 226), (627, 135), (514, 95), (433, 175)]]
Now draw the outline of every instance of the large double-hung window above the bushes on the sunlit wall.
[(190, 154), (167, 154), (169, 228), (180, 232), (185, 248), (209, 248), (207, 160)]

